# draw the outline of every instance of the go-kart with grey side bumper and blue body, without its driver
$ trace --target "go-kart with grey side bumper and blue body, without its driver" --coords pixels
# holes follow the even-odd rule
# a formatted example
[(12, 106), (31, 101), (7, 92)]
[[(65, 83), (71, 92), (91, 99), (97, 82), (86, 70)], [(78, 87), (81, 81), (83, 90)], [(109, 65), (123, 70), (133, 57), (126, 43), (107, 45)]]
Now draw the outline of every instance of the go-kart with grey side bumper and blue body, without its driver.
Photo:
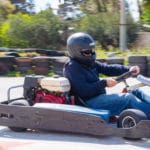
[[(126, 79), (131, 76), (132, 72), (129, 71), (116, 78), (118, 82), (125, 83), (124, 91), (128, 92), (131, 88), (145, 85), (150, 86), (150, 79), (139, 75), (137, 79), (140, 83), (130, 87), (126, 83)], [(53, 86), (39, 85), (39, 81), (42, 79), (45, 77), (26, 76), (23, 85), (8, 89), (8, 100), (0, 103), (1, 126), (8, 126), (17, 132), (37, 129), (94, 136), (119, 136), (129, 139), (150, 137), (150, 120), (147, 119), (144, 112), (127, 109), (118, 116), (112, 116), (108, 110), (89, 108), (81, 98), (78, 98), (80, 105), (74, 104), (75, 99), (72, 102), (68, 84), (65, 87), (67, 90), (62, 90), (67, 103), (55, 104), (35, 101), (39, 89), (43, 91), (48, 88), (54, 89)], [(54, 82), (58, 81), (59, 77), (55, 79)], [(48, 80), (42, 81), (45, 84)], [(23, 96), (11, 99), (10, 91), (20, 87), (23, 87)], [(60, 88), (62, 87), (59, 85)]]

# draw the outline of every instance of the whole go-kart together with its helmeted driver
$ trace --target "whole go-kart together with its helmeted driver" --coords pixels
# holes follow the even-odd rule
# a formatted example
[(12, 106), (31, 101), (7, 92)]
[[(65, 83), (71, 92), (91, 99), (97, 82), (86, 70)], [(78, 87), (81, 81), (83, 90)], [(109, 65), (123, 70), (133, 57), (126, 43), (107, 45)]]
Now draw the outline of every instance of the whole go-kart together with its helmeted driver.
[[(17, 132), (30, 129), (150, 138), (149, 96), (131, 86), (126, 86), (127, 93), (107, 94), (105, 90), (138, 75), (139, 67), (97, 62), (95, 42), (86, 33), (71, 35), (67, 46), (70, 60), (64, 67), (65, 77), (29, 75), (23, 85), (10, 87), (8, 100), (0, 103), (0, 125)], [(111, 77), (103, 79), (100, 74)], [(150, 79), (137, 78), (140, 86), (150, 86)], [(10, 91), (20, 87), (23, 96), (11, 99)]]

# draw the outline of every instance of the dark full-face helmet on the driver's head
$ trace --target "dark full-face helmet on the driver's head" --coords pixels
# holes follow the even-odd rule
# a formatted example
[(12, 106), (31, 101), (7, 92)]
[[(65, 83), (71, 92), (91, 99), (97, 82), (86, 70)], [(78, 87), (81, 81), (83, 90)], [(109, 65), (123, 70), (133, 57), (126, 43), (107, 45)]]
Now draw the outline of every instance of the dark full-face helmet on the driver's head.
[[(94, 48), (95, 41), (86, 33), (74, 33), (67, 40), (69, 56), (82, 64), (93, 64), (96, 58), (95, 51), (93, 51)], [(83, 55), (84, 52), (91, 52), (92, 55), (85, 56)]]

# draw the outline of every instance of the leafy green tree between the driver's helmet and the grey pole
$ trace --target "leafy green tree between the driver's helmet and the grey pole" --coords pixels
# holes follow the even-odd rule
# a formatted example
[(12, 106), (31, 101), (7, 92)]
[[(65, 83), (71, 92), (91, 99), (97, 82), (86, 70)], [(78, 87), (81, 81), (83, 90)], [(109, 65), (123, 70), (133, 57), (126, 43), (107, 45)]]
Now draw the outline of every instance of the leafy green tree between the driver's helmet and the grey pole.
[(109, 46), (118, 46), (119, 26), (116, 22), (119, 15), (100, 13), (85, 16), (78, 25), (79, 31), (91, 34), (104, 49)]

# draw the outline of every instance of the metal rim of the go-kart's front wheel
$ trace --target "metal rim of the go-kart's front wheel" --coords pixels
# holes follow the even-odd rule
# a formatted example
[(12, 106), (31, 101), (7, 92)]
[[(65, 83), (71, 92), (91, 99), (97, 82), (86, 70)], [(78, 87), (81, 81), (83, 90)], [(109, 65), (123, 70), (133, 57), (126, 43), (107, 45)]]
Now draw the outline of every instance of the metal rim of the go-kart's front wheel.
[(123, 128), (132, 128), (136, 126), (136, 120), (131, 116), (126, 116), (122, 120), (122, 127)]

